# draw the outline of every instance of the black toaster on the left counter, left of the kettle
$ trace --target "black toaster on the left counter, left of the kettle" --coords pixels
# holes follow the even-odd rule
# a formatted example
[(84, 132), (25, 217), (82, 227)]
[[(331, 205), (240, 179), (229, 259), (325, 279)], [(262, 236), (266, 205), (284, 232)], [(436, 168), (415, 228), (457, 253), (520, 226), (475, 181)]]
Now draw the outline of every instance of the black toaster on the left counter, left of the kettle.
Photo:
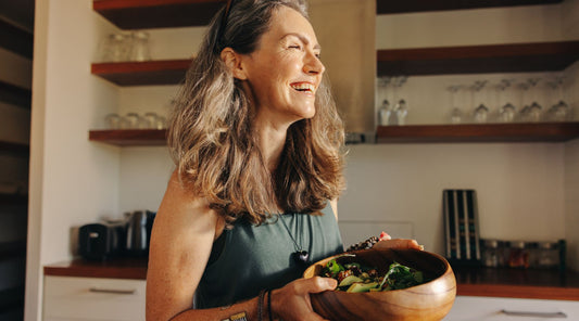
[(78, 230), (78, 252), (88, 260), (105, 260), (125, 251), (126, 226), (119, 223), (90, 223)]

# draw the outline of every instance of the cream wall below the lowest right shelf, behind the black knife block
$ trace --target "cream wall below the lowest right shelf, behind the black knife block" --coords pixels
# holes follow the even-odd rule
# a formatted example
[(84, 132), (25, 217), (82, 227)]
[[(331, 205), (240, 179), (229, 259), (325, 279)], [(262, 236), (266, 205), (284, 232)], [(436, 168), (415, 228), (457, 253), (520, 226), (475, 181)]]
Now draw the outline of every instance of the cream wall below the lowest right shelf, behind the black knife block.
[(392, 236), (416, 237), (443, 254), (442, 191), (475, 189), (482, 237), (557, 240), (565, 234), (563, 149), (549, 143), (351, 145), (340, 219), (412, 223), (414, 235)]

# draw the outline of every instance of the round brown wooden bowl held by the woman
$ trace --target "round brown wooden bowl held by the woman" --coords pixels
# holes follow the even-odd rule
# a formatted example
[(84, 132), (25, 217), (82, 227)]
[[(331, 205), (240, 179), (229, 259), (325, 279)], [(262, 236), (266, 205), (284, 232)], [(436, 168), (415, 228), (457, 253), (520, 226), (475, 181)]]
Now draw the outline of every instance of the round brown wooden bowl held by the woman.
[(351, 256), (332, 256), (310, 266), (303, 277), (320, 275), (322, 269), (333, 258), (338, 262), (363, 262), (386, 274), (397, 261), (421, 271), (427, 280), (420, 285), (385, 292), (347, 293), (326, 291), (312, 294), (314, 311), (332, 321), (353, 320), (442, 320), (456, 296), (456, 279), (449, 262), (441, 256), (417, 249), (362, 249)]

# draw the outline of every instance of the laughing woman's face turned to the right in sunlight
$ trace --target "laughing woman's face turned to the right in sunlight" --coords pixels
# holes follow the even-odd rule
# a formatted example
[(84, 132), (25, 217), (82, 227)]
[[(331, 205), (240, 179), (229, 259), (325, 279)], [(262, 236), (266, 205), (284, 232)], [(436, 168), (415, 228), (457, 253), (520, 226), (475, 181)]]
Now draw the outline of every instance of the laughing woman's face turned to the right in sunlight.
[(325, 70), (319, 52), (305, 17), (287, 7), (274, 12), (257, 49), (242, 57), (257, 121), (289, 126), (314, 116), (315, 94)]

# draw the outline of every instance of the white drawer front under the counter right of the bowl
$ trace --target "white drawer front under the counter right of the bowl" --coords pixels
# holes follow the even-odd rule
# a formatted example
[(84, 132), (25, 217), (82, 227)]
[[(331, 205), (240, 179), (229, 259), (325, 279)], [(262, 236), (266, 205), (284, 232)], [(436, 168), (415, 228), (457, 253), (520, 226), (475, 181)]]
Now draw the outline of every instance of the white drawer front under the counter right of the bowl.
[(576, 321), (579, 301), (457, 296), (445, 321)]

